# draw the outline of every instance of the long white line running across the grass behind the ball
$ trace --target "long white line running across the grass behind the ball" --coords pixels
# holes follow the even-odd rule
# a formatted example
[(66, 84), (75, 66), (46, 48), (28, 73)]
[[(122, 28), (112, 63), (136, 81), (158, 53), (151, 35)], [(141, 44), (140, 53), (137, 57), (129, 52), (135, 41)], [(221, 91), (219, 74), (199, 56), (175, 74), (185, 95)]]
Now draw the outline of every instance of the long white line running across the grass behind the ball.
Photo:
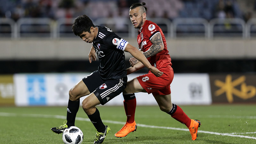
[[(59, 115), (42, 115), (42, 114), (15, 114), (15, 113), (1, 113), (0, 116), (2, 117), (41, 117), (41, 118), (59, 118), (59, 119), (66, 119), (66, 116), (59, 116)], [(89, 118), (83, 117), (76, 117), (76, 120), (81, 121), (90, 121)], [(102, 120), (102, 122), (106, 123), (113, 123), (113, 124), (121, 124), (124, 125), (124, 122), (119, 121), (112, 121), (112, 120)], [(169, 130), (178, 130), (178, 131), (189, 131), (188, 129), (181, 129), (181, 128), (173, 128), (173, 127), (160, 127), (160, 126), (153, 126), (153, 125), (145, 125), (145, 124), (138, 124), (139, 127), (147, 127), (147, 128), (156, 128), (156, 129), (169, 129)], [(212, 135), (226, 135), (232, 137), (241, 137), (241, 138), (249, 138), (249, 139), (256, 139), (253, 136), (245, 136), (245, 135), (236, 135), (236, 134), (247, 134), (247, 133), (217, 133), (217, 132), (209, 132), (209, 131), (201, 131), (199, 130), (198, 133), (205, 133), (205, 134), (212, 134)], [(253, 132), (256, 133), (256, 132)], [(248, 133), (249, 134), (249, 133)]]

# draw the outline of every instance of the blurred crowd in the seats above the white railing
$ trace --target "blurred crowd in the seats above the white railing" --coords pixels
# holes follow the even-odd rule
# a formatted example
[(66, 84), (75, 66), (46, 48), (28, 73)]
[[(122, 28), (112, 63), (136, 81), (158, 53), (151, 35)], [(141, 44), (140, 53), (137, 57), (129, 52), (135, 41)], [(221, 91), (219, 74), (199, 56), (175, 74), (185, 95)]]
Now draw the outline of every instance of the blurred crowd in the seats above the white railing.
[(82, 14), (92, 19), (129, 17), (129, 7), (137, 2), (146, 3), (147, 16), (152, 18), (243, 18), (247, 21), (252, 17), (252, 12), (242, 12), (236, 0), (0, 0), (0, 17), (15, 21), (24, 17), (56, 20)]

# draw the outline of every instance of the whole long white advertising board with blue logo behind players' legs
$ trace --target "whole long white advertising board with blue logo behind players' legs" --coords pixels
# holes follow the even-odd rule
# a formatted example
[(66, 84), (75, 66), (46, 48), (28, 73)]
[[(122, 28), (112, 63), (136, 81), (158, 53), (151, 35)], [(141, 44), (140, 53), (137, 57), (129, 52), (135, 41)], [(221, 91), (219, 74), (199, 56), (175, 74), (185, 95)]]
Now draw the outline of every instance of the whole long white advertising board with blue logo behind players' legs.
[[(69, 89), (90, 73), (15, 74), (16, 106), (67, 106)], [(128, 75), (131, 80), (142, 74)], [(175, 74), (171, 84), (172, 102), (183, 105), (212, 103), (208, 74)], [(82, 102), (84, 98), (81, 98)], [(157, 105), (152, 94), (136, 93), (137, 105)], [(122, 94), (105, 105), (123, 105)]]

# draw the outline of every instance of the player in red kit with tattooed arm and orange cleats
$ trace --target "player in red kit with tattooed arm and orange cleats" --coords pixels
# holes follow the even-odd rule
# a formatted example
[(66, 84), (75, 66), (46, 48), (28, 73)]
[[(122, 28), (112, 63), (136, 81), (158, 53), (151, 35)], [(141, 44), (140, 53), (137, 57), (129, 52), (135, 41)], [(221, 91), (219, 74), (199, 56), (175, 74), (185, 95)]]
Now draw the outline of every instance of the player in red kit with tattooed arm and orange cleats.
[[(183, 110), (171, 101), (170, 84), (173, 80), (173, 69), (170, 55), (168, 54), (166, 40), (161, 28), (146, 19), (145, 3), (135, 3), (130, 7), (130, 19), (135, 28), (139, 29), (138, 44), (140, 51), (145, 55), (152, 66), (158, 68), (163, 75), (156, 77), (151, 71), (148, 74), (134, 78), (127, 82), (127, 87), (123, 91), (124, 109), (127, 116), (125, 125), (115, 136), (124, 137), (130, 132), (137, 130), (135, 122), (136, 97), (134, 93), (152, 93), (156, 99), (160, 110), (171, 115), (174, 119), (185, 124), (192, 136), (196, 140), (199, 120), (190, 119)], [(127, 69), (127, 75), (141, 68), (143, 64), (136, 58), (130, 58), (131, 67)]]

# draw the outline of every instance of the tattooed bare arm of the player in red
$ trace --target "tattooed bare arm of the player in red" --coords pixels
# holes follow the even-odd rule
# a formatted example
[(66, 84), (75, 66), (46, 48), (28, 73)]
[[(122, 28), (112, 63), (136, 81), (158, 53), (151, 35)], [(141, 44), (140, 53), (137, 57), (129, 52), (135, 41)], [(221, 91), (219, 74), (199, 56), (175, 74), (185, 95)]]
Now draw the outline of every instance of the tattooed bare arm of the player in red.
[(163, 47), (163, 40), (162, 36), (159, 33), (156, 33), (152, 38), (151, 38), (151, 43), (153, 44), (147, 51), (145, 51), (143, 54), (146, 58), (151, 57), (159, 53), (161, 50), (161, 47)]

